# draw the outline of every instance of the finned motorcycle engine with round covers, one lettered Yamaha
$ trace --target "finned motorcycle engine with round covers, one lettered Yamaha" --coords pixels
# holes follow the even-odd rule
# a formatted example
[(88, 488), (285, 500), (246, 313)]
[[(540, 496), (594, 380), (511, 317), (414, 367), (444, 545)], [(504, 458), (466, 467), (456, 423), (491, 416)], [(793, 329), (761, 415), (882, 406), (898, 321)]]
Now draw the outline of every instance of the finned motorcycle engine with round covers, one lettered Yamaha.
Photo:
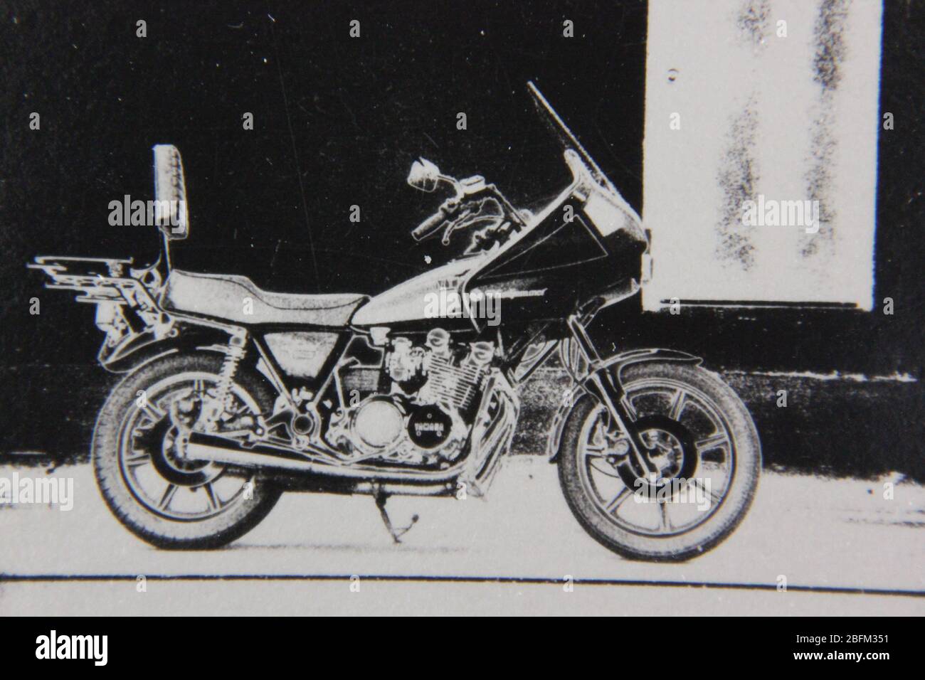
[(388, 388), (332, 417), (328, 441), (351, 461), (449, 464), (469, 434), (493, 356), (492, 343), (454, 346), (443, 328), (427, 333), (424, 345), (391, 340), (384, 365)]

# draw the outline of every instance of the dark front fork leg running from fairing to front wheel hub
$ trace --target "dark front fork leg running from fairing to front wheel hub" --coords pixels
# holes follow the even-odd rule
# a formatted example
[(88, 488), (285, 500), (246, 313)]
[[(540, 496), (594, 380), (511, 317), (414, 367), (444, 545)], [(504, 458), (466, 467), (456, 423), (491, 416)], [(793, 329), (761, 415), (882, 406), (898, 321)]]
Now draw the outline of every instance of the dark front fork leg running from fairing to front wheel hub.
[(586, 321), (578, 315), (568, 317), (566, 323), (572, 331), (578, 348), (585, 355), (587, 362), (587, 377), (585, 389), (603, 403), (611, 415), (611, 421), (629, 441), (630, 450), (627, 459), (636, 476), (646, 477), (658, 472), (657, 466), (649, 459), (649, 447), (643, 441), (638, 428), (635, 427), (635, 413), (626, 400), (626, 392), (617, 376), (617, 371), (598, 370), (603, 364), (594, 342), (585, 329), (587, 321), (593, 317), (592, 313), (585, 315)]

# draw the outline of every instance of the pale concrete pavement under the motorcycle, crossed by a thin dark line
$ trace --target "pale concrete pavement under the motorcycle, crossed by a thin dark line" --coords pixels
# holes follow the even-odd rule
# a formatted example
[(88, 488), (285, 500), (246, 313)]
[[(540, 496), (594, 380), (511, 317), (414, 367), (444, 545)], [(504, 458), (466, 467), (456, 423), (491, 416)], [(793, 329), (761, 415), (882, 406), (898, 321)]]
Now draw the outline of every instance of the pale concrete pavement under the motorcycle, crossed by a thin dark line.
[[(43, 475), (41, 469), (16, 469), (20, 476)], [(0, 476), (12, 470), (0, 467)], [(390, 608), (401, 603), (411, 611), (448, 608), (448, 613), (480, 607), (487, 612), (511, 607), (517, 612), (584, 612), (583, 606), (633, 613), (634, 603), (648, 608), (658, 602), (669, 608), (665, 613), (684, 613), (685, 608), (702, 613), (925, 613), (925, 598), (908, 594), (925, 592), (925, 488), (918, 484), (766, 472), (745, 522), (722, 545), (689, 563), (655, 564), (623, 560), (586, 536), (561, 496), (555, 472), (542, 458), (522, 456), (507, 462), (487, 501), (392, 499), (388, 507), (396, 524), (412, 513), (421, 517), (401, 545), (392, 543), (368, 497), (289, 494), (261, 525), (226, 549), (170, 552), (148, 546), (117, 523), (96, 490), (89, 465), (64, 466), (53, 476), (74, 479), (70, 512), (38, 505), (0, 507), (5, 546), (0, 572), (14, 578), (120, 575), (126, 580), (7, 580), (0, 583), (0, 612), (348, 612), (364, 607), (358, 600), (339, 603), (343, 593), (351, 592), (350, 576), (358, 575), (361, 591), (379, 593), (363, 599), (371, 611), (394, 611)], [(894, 482), (893, 500), (883, 498), (886, 481)], [(148, 597), (134, 597), (138, 575), (151, 578)], [(335, 578), (156, 579), (177, 575)], [(366, 578), (373, 575), (549, 582)], [(567, 576), (576, 582), (569, 594), (578, 595), (558, 600), (555, 596), (566, 592), (561, 583)], [(776, 588), (782, 576), (786, 592)], [(610, 585), (589, 583), (596, 580)], [(711, 587), (659, 585), (665, 583)], [(838, 588), (852, 594), (826, 590)], [(586, 604), (580, 605), (583, 600)], [(568, 602), (564, 609), (562, 601)]]

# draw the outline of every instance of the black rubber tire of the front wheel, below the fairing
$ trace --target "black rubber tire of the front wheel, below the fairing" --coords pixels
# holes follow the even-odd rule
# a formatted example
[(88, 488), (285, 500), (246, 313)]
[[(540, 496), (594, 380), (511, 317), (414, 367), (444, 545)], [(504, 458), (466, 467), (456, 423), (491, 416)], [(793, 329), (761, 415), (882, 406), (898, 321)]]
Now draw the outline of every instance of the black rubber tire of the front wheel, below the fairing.
[[(721, 500), (710, 501), (710, 512), (705, 519), (700, 520), (701, 524), (692, 525), (690, 530), (679, 530), (680, 533), (672, 533), (674, 529), (671, 521), (663, 521), (664, 535), (658, 535), (650, 530), (634, 530), (630, 523), (620, 519), (619, 504), (615, 510), (610, 510), (618, 497), (623, 500), (632, 499), (630, 501), (632, 506), (632, 502), (638, 500), (632, 498), (634, 489), (630, 488), (625, 481), (615, 481), (614, 488), (619, 490), (610, 503), (601, 502), (589, 490), (589, 487), (593, 488), (593, 485), (587, 482), (591, 474), (583, 472), (582, 466), (586, 466), (587, 471), (588, 465), (598, 464), (597, 461), (589, 461), (591, 456), (600, 455), (603, 460), (606, 460), (603, 454), (589, 454), (583, 451), (581, 445), (581, 440), (588, 437), (588, 424), (593, 418), (600, 418), (603, 412), (603, 407), (590, 395), (583, 396), (575, 403), (566, 420), (559, 451), (559, 479), (565, 500), (579, 524), (606, 548), (632, 560), (679, 562), (697, 557), (713, 548), (728, 537), (742, 521), (758, 486), (761, 466), (759, 437), (746, 405), (733, 389), (715, 374), (699, 366), (672, 362), (646, 363), (628, 366), (623, 371), (623, 387), (628, 395), (632, 395), (634, 390), (644, 389), (647, 385), (667, 385), (669, 387), (661, 389), (669, 393), (672, 386), (691, 389), (692, 394), (696, 393), (707, 401), (713, 402), (715, 409), (722, 413), (726, 421), (728, 450), (722, 453), (722, 457), (730, 463), (731, 473), (727, 477), (728, 486), (724, 489)], [(653, 424), (653, 429), (661, 429), (663, 432), (671, 432), (673, 429), (678, 435), (674, 438), (676, 441), (692, 440), (687, 436), (685, 427), (680, 427), (666, 415), (649, 415), (647, 422)], [(697, 442), (697, 447), (695, 447), (698, 458), (701, 448), (699, 444), (700, 442)], [(687, 444), (687, 447), (689, 451), (690, 444)], [(682, 448), (679, 443), (678, 449)], [(713, 453), (719, 455), (716, 451)], [(683, 460), (683, 458), (679, 455), (679, 459)], [(679, 469), (686, 468), (690, 463), (686, 461), (678, 467)], [(607, 475), (609, 472), (607, 470), (604, 474)], [(693, 476), (697, 477), (697, 474), (695, 472)], [(623, 470), (623, 475), (612, 476), (618, 480), (621, 477), (625, 479), (625, 470)], [(685, 477), (685, 475), (678, 476)], [(624, 491), (623, 488), (626, 490)], [(630, 510), (632, 511), (633, 508), (630, 507)], [(662, 513), (667, 512), (667, 509), (663, 507), (659, 507), (659, 510)]]

